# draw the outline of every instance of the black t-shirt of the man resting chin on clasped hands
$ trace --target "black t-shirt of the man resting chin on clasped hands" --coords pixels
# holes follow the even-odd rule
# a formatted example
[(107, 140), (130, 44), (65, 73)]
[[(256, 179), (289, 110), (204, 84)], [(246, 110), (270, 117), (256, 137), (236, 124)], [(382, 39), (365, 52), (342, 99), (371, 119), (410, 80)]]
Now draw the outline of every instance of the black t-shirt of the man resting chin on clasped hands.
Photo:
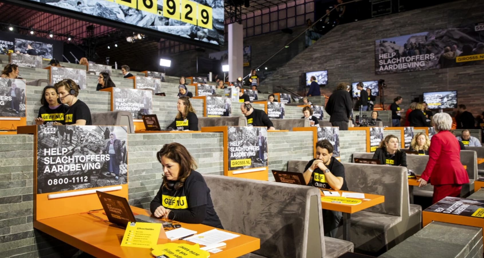
[[(311, 167), (311, 165), (313, 164), (313, 162), (315, 160), (316, 159), (310, 160), (307, 163), (306, 167), (304, 168), (304, 171), (306, 171), (309, 167)], [(339, 162), (336, 158), (331, 157), (331, 163), (330, 163), (330, 165), (326, 165), (326, 167), (328, 167), (330, 172), (335, 177), (342, 177), (343, 178), (343, 185), (341, 186), (340, 190), (348, 191), (348, 186), (346, 185), (346, 178), (345, 178), (345, 167), (343, 166), (343, 164), (341, 164), (341, 162)], [(318, 187), (318, 188), (325, 188), (325, 189), (333, 190), (333, 188), (331, 188), (330, 184), (328, 182), (326, 182), (326, 177), (324, 176), (323, 171), (321, 171), (321, 169), (319, 169), (318, 167), (313, 171), (313, 174), (311, 175), (311, 180), (309, 181), (309, 183), (307, 185), (315, 186), (315, 187)]]

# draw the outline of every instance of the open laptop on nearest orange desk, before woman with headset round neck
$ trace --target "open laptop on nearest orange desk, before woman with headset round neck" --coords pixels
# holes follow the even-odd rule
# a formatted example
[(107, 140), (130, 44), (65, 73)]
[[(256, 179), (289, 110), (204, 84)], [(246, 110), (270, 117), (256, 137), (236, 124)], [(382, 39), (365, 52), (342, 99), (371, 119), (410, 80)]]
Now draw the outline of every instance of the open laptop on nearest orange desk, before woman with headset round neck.
[(111, 195), (100, 191), (96, 191), (96, 195), (99, 197), (99, 201), (101, 201), (101, 204), (103, 205), (104, 212), (106, 212), (109, 222), (114, 223), (122, 228), (126, 228), (128, 222), (162, 223), (163, 227), (171, 225), (169, 222), (150, 216), (133, 214), (128, 200), (124, 197)]

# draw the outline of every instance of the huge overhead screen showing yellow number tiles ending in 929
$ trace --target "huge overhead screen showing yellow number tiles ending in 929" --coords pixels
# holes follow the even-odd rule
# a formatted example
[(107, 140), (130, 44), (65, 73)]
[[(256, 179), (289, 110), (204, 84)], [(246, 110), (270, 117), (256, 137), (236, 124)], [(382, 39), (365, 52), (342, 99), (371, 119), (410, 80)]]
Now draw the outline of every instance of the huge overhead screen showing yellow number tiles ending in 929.
[[(190, 38), (200, 43), (224, 45), (223, 0), (26, 0)], [(65, 15), (65, 13), (63, 14)], [(107, 25), (107, 24), (106, 24)], [(120, 25), (121, 26), (121, 25)]]

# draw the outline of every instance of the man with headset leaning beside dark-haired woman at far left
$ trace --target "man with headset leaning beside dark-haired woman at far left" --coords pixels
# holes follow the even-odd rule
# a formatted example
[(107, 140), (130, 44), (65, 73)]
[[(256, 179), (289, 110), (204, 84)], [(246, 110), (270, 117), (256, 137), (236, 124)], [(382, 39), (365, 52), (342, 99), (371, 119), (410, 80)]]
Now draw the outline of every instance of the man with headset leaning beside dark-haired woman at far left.
[[(64, 124), (70, 125), (91, 125), (91, 110), (86, 103), (77, 99), (79, 95), (79, 86), (72, 79), (63, 79), (54, 84), (59, 93), (62, 104), (67, 104), (68, 109), (64, 113)], [(54, 125), (62, 125), (60, 122), (54, 122)]]

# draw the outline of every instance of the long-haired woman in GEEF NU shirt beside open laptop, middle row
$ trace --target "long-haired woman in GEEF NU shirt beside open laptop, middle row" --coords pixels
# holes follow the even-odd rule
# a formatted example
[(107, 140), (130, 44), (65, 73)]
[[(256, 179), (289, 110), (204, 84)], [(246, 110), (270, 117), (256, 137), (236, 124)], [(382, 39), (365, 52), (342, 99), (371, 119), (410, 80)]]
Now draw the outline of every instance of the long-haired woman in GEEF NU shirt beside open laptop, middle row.
[(168, 128), (174, 130), (191, 130), (198, 131), (198, 118), (195, 114), (190, 99), (188, 97), (181, 97), (177, 102), (178, 114)]

